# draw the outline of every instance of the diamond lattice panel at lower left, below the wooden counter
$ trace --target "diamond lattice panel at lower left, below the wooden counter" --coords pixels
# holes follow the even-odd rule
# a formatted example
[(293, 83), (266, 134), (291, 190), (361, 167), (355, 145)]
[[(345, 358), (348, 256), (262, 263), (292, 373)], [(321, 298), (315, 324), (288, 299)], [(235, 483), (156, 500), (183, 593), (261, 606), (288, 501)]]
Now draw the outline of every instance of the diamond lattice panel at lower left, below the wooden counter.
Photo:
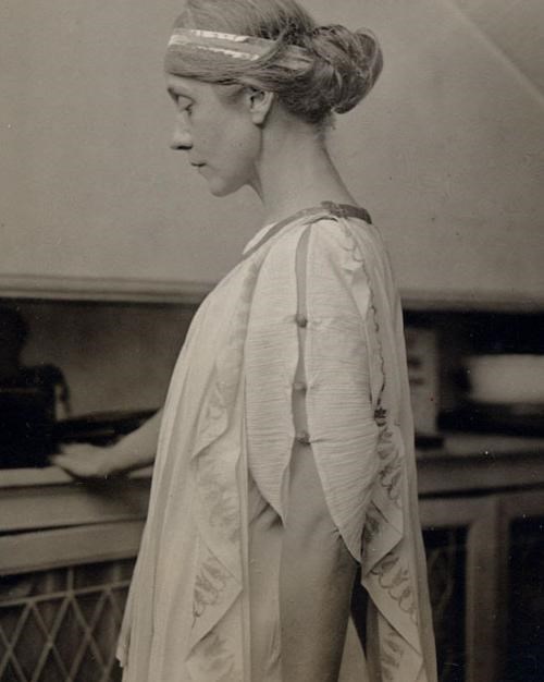
[(0, 579), (2, 682), (119, 682), (133, 561)]

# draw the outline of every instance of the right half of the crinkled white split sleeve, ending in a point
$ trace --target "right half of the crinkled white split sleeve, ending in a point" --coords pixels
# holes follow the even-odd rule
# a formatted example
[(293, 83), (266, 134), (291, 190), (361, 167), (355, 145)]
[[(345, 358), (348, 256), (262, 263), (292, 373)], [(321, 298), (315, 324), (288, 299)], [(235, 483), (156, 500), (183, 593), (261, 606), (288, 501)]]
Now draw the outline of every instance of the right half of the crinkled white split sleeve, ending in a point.
[[(334, 523), (358, 557), (380, 468), (373, 315), (364, 272), (358, 269), (354, 279), (345, 267), (341, 226), (323, 222), (308, 228), (297, 245), (297, 317), (306, 324), (297, 327), (293, 421), (312, 450)], [(304, 392), (296, 388), (300, 381)]]

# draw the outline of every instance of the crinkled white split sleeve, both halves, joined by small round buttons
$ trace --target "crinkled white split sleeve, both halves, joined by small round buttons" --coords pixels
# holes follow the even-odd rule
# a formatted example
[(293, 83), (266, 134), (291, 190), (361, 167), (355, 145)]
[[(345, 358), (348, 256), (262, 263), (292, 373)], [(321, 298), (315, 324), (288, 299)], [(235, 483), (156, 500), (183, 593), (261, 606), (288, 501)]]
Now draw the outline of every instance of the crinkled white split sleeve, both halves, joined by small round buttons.
[(306, 435), (335, 524), (356, 552), (378, 468), (378, 427), (368, 287), (358, 279), (354, 289), (344, 239), (337, 221), (323, 220), (269, 249), (245, 342), (245, 417), (249, 467), (263, 497), (282, 514), (293, 446)]

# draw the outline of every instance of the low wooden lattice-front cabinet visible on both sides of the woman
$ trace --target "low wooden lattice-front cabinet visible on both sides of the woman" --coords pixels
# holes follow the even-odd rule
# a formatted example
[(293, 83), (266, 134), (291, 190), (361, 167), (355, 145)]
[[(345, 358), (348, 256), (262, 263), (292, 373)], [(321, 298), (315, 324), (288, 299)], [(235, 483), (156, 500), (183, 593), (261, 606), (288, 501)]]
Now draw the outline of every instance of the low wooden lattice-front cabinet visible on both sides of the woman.
[[(441, 682), (540, 682), (542, 451), (428, 456), (419, 478)], [(114, 682), (148, 476), (11, 471), (0, 485), (0, 679)]]

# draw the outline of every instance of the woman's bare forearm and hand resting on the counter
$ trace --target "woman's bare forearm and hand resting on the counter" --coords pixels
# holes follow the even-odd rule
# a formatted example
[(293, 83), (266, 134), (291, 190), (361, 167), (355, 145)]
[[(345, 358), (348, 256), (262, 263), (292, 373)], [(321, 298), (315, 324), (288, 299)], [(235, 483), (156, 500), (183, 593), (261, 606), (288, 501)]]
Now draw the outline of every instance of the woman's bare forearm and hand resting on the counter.
[(154, 461), (161, 419), (162, 410), (113, 446), (65, 446), (51, 463), (78, 478), (101, 478), (149, 466)]

